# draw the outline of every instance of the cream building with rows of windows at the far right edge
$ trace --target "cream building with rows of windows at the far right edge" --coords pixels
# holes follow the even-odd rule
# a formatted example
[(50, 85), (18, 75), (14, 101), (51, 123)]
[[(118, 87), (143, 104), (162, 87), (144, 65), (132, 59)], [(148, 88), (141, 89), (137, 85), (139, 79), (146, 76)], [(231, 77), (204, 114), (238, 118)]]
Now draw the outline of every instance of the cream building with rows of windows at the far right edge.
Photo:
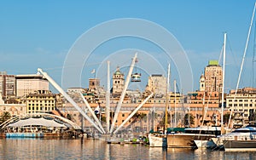
[[(256, 111), (256, 89), (243, 88), (230, 90), (226, 97), (226, 107), (234, 113), (234, 128), (241, 128), (249, 123), (249, 117)], [(255, 116), (253, 116), (255, 117)], [(255, 118), (253, 119), (255, 121)]]

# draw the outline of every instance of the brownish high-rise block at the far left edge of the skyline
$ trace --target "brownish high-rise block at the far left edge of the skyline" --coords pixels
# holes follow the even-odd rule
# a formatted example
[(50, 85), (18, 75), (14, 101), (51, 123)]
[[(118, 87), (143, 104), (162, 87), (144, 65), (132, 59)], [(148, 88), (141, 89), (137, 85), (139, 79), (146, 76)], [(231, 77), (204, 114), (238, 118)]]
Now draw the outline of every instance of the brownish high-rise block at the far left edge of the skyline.
[(15, 97), (15, 76), (7, 75), (6, 71), (0, 71), (0, 94), (3, 100)]

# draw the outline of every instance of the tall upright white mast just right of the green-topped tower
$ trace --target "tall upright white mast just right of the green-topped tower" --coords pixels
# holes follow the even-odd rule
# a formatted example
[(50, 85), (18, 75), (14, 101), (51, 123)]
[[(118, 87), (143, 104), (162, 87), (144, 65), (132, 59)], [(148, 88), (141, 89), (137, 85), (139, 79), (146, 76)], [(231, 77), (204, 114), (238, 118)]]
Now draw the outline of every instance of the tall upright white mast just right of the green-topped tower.
[(221, 127), (223, 127), (223, 111), (224, 111), (224, 79), (225, 79), (225, 60), (226, 60), (226, 37), (227, 33), (224, 33), (224, 49), (223, 49), (223, 75), (222, 75), (222, 94), (221, 94)]

